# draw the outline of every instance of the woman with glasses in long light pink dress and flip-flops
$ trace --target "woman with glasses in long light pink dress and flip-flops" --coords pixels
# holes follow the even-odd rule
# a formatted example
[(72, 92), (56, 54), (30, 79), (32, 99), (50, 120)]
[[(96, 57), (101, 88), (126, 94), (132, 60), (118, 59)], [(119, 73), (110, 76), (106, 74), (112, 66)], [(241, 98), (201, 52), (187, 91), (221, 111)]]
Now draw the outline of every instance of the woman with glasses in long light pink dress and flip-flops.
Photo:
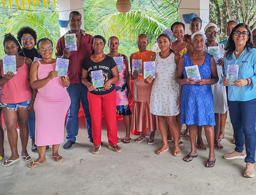
[(29, 163), (30, 168), (46, 161), (47, 145), (52, 145), (52, 158), (56, 162), (63, 161), (58, 148), (64, 142), (64, 122), (70, 106), (66, 89), (70, 80), (68, 75), (60, 76), (60, 72), (56, 71), (56, 59), (52, 58), (52, 41), (42, 38), (38, 40), (37, 48), (43, 59), (33, 62), (30, 85), (32, 89), (38, 89), (34, 109), (35, 144), (39, 157)]

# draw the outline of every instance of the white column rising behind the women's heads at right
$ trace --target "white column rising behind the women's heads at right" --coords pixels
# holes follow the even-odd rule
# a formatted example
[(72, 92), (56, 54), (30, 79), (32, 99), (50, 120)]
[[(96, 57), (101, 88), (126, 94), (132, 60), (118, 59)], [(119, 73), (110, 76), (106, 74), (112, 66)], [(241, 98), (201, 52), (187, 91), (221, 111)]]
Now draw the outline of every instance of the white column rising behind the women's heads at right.
[[(182, 14), (196, 14), (202, 20), (202, 29), (209, 23), (209, 0), (180, 0), (180, 21), (185, 23)], [(189, 24), (185, 24), (185, 34), (191, 34)]]

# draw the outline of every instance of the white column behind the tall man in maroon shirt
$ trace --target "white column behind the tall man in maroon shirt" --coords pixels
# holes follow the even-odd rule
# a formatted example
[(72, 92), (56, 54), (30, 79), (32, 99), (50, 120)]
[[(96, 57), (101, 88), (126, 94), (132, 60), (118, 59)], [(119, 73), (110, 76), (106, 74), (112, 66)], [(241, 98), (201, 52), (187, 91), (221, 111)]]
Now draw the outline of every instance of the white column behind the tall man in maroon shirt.
[[(82, 14), (82, 25), (81, 29), (84, 29), (84, 9), (83, 1), (81, 0), (58, 0), (58, 11), (59, 11), (59, 20), (69, 20), (69, 14), (71, 11), (79, 11)], [(67, 28), (61, 28), (61, 36), (70, 30), (69, 24)]]

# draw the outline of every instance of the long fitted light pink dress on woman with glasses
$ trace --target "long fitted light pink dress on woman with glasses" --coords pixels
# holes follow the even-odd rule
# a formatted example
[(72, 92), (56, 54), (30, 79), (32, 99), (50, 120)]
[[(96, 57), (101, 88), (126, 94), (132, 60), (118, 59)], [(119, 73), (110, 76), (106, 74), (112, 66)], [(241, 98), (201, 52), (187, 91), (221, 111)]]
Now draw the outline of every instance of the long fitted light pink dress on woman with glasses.
[[(44, 79), (55, 70), (56, 63), (41, 64), (38, 61), (38, 80)], [(70, 97), (61, 83), (61, 77), (54, 77), (38, 89), (35, 97), (35, 144), (55, 145), (64, 142), (64, 123)]]

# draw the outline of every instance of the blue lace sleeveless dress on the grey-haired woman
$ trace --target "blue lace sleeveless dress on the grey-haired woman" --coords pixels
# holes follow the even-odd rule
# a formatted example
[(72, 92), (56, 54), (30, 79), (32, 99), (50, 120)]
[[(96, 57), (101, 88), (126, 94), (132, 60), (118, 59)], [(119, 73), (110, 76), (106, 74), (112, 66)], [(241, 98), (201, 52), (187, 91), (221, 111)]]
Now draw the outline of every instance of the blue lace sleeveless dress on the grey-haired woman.
[[(189, 54), (184, 55), (183, 75), (186, 75), (186, 66), (193, 66)], [(211, 77), (211, 55), (206, 53), (204, 63), (198, 66), (201, 79)], [(182, 86), (180, 98), (180, 123), (186, 125), (213, 125), (215, 126), (214, 104), (211, 85), (187, 85)]]

